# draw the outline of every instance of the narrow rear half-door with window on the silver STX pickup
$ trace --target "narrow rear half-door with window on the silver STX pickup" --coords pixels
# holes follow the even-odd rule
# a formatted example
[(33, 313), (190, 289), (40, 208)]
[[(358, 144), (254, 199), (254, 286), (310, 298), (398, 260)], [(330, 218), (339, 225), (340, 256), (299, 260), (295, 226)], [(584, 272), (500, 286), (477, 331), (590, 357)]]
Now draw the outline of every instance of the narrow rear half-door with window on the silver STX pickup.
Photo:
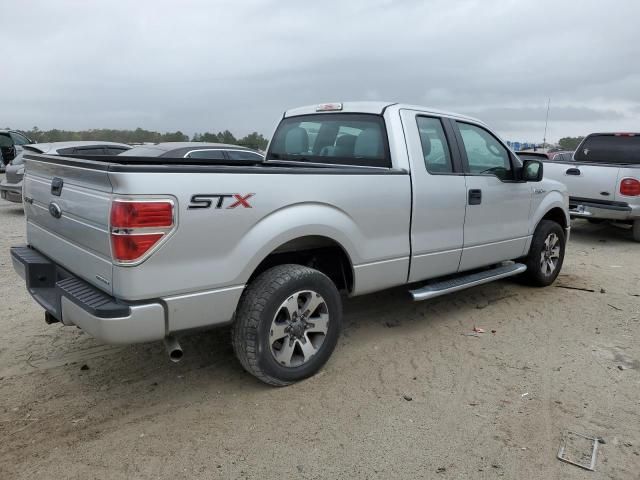
[(448, 120), (402, 110), (413, 209), (409, 281), (458, 271), (463, 246), (465, 178)]

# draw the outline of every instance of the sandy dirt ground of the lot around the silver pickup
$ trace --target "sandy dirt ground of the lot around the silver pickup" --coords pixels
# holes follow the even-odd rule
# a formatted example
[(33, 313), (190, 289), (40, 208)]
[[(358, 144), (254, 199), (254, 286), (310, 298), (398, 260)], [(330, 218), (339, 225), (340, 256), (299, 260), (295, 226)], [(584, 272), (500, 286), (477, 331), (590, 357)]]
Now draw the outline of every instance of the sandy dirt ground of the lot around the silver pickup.
[[(0, 201), (3, 480), (640, 478), (629, 232), (575, 222), (546, 289), (347, 300), (324, 370), (275, 389), (243, 372), (225, 330), (184, 339), (176, 365), (160, 343), (47, 326), (9, 259), (23, 222)], [(474, 325), (486, 333), (468, 336)], [(604, 439), (595, 473), (556, 459), (564, 430)]]

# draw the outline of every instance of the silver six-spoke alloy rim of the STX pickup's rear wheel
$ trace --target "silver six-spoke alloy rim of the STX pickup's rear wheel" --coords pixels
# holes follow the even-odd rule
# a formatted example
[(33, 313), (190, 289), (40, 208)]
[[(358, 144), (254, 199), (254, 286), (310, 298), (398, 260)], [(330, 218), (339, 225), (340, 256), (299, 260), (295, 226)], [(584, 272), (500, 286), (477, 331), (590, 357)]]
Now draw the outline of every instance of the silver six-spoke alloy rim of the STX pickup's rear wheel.
[(276, 362), (294, 368), (318, 353), (329, 328), (325, 299), (313, 290), (289, 296), (278, 308), (269, 330), (269, 348)]

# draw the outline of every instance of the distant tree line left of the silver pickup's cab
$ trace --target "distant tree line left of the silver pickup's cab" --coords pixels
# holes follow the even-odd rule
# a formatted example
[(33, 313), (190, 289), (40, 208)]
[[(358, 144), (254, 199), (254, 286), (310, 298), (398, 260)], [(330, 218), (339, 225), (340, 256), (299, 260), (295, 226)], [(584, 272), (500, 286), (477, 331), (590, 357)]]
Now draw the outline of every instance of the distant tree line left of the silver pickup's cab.
[(268, 140), (260, 133), (253, 132), (242, 138), (236, 138), (229, 130), (224, 132), (196, 133), (191, 139), (180, 130), (176, 132), (155, 132), (136, 128), (135, 130), (115, 130), (109, 128), (98, 128), (91, 130), (40, 130), (33, 127), (24, 133), (36, 143), (65, 142), (82, 140), (102, 140), (119, 143), (158, 143), (158, 142), (208, 142), (208, 143), (228, 143), (231, 145), (242, 145), (243, 147), (255, 150), (267, 148)]

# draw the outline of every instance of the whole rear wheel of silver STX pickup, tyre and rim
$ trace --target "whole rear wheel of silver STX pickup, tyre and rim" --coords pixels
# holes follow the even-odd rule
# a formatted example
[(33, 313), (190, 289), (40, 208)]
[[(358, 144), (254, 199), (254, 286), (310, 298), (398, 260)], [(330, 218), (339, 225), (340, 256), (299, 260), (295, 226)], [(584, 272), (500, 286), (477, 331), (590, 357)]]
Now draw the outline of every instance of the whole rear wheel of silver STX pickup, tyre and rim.
[(233, 349), (247, 372), (270, 385), (289, 385), (327, 362), (341, 320), (340, 294), (326, 275), (302, 265), (279, 265), (243, 293)]

